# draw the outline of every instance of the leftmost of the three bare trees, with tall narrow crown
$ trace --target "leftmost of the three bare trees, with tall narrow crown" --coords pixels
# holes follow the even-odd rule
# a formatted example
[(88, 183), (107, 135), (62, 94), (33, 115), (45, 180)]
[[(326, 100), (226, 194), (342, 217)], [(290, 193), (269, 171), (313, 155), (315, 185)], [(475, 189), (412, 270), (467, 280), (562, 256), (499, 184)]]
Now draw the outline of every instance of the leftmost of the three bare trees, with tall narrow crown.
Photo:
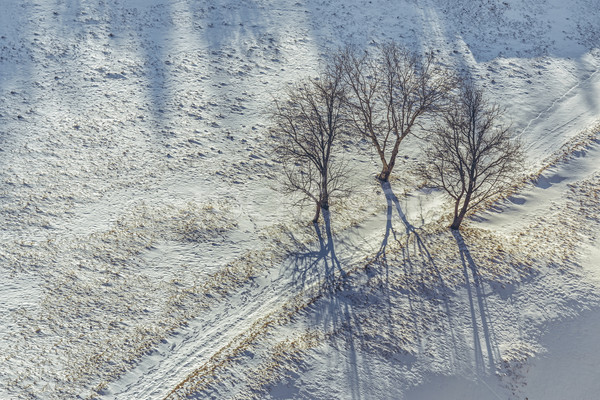
[(335, 70), (295, 85), (275, 102), (272, 136), (283, 165), (284, 189), (300, 192), (316, 205), (313, 222), (330, 200), (347, 191), (347, 164), (338, 152), (346, 133), (345, 90)]

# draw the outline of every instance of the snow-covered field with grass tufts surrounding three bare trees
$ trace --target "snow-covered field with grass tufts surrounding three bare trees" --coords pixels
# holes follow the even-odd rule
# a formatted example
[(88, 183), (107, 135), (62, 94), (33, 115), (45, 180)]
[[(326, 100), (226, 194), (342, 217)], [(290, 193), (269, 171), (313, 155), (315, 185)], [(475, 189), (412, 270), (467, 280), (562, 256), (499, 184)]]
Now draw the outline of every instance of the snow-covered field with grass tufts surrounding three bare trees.
[[(0, 398), (594, 399), (598, 0), (0, 0)], [(367, 143), (320, 237), (268, 110), (338, 46), (469, 71), (527, 151), (452, 234)], [(377, 257), (378, 256), (378, 257)]]

